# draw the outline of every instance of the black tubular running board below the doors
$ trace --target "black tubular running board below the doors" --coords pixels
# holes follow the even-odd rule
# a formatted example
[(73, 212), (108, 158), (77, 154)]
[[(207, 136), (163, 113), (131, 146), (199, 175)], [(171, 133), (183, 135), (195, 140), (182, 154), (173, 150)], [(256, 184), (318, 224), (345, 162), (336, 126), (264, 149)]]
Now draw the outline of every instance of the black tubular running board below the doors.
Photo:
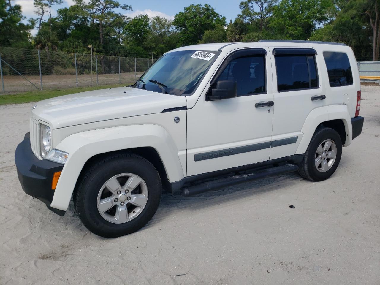
[(235, 175), (232, 177), (225, 177), (221, 179), (211, 180), (203, 182), (198, 185), (182, 188), (183, 196), (197, 195), (203, 192), (212, 191), (218, 188), (228, 187), (230, 185), (239, 184), (245, 181), (261, 179), (269, 176), (277, 176), (282, 174), (291, 173), (298, 170), (298, 166), (294, 164), (287, 164), (282, 166), (276, 166), (266, 169), (261, 169), (251, 173), (244, 173)]

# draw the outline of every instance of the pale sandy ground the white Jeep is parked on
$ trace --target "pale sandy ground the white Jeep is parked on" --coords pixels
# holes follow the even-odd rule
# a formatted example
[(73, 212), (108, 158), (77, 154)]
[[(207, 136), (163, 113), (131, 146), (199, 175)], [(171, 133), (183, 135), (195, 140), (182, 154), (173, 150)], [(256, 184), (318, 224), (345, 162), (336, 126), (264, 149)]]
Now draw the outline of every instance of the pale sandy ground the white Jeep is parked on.
[[(336, 173), (198, 197), (165, 194), (140, 231), (105, 239), (27, 196), (14, 150), (33, 104), (0, 107), (0, 284), (380, 284), (380, 87)], [(295, 209), (288, 206), (295, 205)]]

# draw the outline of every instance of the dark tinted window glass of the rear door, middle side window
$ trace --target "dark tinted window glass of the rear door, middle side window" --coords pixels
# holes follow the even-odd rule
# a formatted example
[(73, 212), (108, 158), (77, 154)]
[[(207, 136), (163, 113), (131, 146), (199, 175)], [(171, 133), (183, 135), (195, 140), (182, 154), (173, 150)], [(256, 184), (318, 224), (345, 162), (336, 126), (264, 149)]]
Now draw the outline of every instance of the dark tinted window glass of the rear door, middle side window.
[(314, 55), (276, 55), (275, 62), (279, 92), (318, 87)]

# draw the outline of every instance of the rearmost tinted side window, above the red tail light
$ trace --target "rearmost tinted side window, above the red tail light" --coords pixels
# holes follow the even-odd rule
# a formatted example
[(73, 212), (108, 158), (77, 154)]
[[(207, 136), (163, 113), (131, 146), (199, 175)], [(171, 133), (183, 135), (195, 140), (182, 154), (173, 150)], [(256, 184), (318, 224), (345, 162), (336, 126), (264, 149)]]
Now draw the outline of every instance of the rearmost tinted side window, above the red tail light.
[(344, 52), (323, 52), (331, 87), (353, 84), (350, 61)]

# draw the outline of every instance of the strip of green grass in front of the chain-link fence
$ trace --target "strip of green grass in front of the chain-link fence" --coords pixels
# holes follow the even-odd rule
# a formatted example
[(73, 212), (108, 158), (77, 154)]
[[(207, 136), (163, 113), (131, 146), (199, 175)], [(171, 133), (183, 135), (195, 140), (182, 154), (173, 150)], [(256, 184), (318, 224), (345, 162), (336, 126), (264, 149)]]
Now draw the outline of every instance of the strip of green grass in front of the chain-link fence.
[(36, 101), (41, 101), (44, 99), (67, 95), (67, 94), (98, 90), (98, 89), (122, 87), (122, 86), (127, 86), (127, 85), (129, 84), (112, 84), (112, 85), (92, 86), (92, 87), (73, 87), (73, 88), (66, 88), (66, 89), (35, 90), (35, 91), (28, 91), (28, 92), (17, 93), (17, 94), (4, 94), (4, 95), (0, 95), (0, 105), (36, 102)]

